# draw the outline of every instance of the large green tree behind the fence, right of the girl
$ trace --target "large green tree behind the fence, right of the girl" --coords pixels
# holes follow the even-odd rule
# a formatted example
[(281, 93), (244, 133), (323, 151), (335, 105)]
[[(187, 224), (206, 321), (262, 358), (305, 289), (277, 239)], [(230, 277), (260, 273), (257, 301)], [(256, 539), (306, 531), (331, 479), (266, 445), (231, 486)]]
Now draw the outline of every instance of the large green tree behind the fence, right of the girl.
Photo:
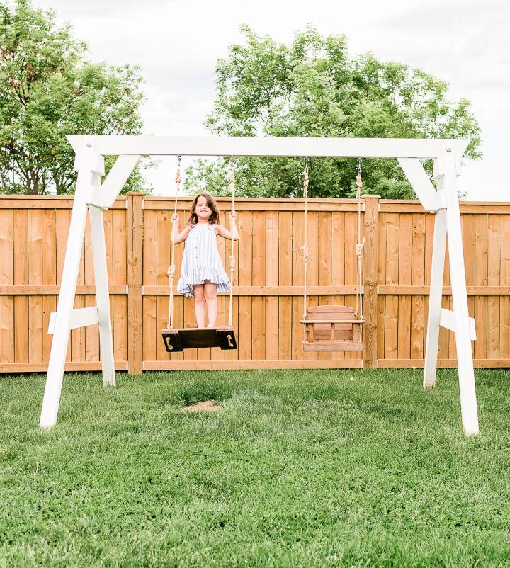
[[(217, 135), (309, 137), (467, 137), (465, 157), (480, 157), (480, 127), (464, 98), (419, 69), (348, 56), (344, 35), (309, 27), (291, 45), (244, 26), (244, 43), (216, 67), (217, 94), (206, 125)], [(429, 161), (430, 162), (430, 161)], [(227, 193), (228, 159), (196, 161), (186, 188)], [(302, 195), (303, 159), (239, 158), (241, 195)], [(431, 173), (431, 163), (426, 163)], [(352, 197), (356, 159), (311, 159), (312, 197)], [(364, 159), (363, 186), (384, 198), (415, 198), (395, 159)]]

